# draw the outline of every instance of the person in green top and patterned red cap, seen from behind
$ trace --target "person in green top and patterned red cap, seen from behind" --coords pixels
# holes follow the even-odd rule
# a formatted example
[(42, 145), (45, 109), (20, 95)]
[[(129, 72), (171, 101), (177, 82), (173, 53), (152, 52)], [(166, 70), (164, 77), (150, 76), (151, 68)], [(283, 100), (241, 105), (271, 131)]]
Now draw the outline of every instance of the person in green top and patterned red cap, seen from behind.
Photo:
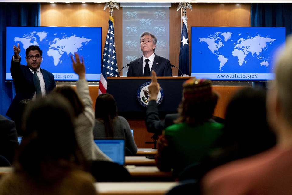
[(174, 176), (187, 166), (200, 162), (210, 152), (224, 126), (210, 122), (214, 111), (210, 80), (192, 78), (182, 86), (183, 98), (178, 108), (180, 117), (176, 124), (162, 132), (156, 159), (158, 168), (173, 169)]

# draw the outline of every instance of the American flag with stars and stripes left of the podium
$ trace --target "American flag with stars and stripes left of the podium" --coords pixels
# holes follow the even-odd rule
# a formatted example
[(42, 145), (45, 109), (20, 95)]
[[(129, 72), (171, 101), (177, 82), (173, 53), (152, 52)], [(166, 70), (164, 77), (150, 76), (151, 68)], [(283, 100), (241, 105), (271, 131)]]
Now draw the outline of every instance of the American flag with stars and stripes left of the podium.
[(106, 42), (103, 50), (103, 61), (99, 81), (98, 94), (106, 93), (107, 76), (118, 76), (118, 64), (116, 63), (116, 48), (113, 31), (113, 17), (109, 16), (109, 29), (106, 35)]

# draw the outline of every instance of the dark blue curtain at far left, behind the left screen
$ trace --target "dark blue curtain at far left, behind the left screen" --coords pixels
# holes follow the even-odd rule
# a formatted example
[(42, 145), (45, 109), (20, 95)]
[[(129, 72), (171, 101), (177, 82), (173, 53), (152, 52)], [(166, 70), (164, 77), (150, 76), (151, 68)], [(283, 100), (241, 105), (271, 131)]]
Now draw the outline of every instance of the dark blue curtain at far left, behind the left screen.
[[(0, 3), (0, 114), (5, 115), (15, 95), (5, 82), (6, 26), (40, 26), (40, 3)], [(11, 46), (11, 57), (13, 45)]]

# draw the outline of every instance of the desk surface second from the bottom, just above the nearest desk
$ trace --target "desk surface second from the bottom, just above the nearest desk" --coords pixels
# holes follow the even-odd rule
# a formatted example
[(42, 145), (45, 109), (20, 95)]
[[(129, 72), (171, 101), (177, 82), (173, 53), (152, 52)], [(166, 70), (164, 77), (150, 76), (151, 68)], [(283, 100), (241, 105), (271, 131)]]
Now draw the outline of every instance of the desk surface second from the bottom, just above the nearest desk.
[(127, 165), (126, 169), (133, 177), (172, 177), (171, 171), (160, 171), (156, 166)]

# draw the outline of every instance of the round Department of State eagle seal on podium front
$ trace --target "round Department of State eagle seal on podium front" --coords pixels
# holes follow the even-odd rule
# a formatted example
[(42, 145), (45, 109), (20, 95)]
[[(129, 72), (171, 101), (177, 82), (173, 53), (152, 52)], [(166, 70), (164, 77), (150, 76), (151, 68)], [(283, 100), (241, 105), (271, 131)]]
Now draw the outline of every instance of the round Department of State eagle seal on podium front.
[[(139, 101), (139, 103), (143, 106), (143, 107), (148, 107), (148, 103), (149, 103), (149, 90), (148, 90), (148, 86), (150, 85), (151, 81), (148, 81), (146, 83), (143, 83), (137, 90), (137, 99)], [(162, 88), (160, 87), (159, 93), (157, 95), (157, 99), (156, 99), (156, 105), (160, 105), (162, 100), (164, 98), (164, 92), (162, 90)]]

